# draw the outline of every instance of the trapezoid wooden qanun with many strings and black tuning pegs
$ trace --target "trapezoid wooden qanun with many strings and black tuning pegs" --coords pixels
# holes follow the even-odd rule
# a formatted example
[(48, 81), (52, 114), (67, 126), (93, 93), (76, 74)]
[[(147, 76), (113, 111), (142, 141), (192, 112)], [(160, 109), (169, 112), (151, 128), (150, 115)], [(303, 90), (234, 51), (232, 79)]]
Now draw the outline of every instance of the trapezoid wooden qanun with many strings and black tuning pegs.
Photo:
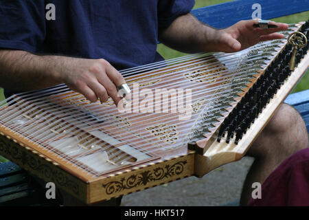
[(0, 153), (84, 203), (202, 177), (245, 155), (304, 74), (308, 28), (125, 69), (122, 111), (66, 85), (14, 94), (0, 102)]

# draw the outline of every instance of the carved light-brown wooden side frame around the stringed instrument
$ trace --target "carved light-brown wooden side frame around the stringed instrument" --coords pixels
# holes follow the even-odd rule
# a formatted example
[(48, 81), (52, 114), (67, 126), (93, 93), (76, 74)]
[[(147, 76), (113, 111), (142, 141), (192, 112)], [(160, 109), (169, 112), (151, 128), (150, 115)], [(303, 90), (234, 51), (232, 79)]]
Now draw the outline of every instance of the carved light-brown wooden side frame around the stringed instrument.
[[(279, 54), (279, 53), (278, 53)], [(298, 67), (286, 83), (277, 91), (266, 108), (242, 137), (238, 146), (231, 141), (229, 144), (209, 142), (212, 136), (205, 137), (196, 143), (196, 151), (188, 149), (187, 153), (168, 159), (155, 159), (150, 162), (134, 164), (119, 170), (117, 173), (106, 173), (96, 177), (73, 164), (61, 159), (56, 154), (38, 146), (3, 124), (0, 125), (0, 154), (18, 164), (37, 177), (52, 181), (61, 190), (76, 197), (83, 203), (91, 204), (128, 195), (170, 181), (190, 177), (203, 177), (218, 166), (241, 159), (249, 146), (258, 137), (276, 109), (288, 96), (289, 91), (297, 84), (309, 65), (309, 53), (304, 56)], [(264, 67), (266, 69), (266, 66)], [(229, 111), (236, 106), (241, 97), (253, 86), (264, 71), (255, 74), (252, 83), (231, 104)], [(222, 115), (223, 116), (223, 115)], [(218, 120), (221, 123), (222, 120)], [(215, 131), (213, 132), (213, 134)], [(210, 144), (209, 144), (210, 143)]]

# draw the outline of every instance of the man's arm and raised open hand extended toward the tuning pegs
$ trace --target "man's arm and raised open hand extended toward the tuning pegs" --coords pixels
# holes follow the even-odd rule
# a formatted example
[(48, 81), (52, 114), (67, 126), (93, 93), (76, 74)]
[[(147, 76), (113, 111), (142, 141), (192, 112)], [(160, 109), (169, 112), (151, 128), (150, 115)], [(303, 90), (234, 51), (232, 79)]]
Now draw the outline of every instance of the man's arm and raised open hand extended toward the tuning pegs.
[(239, 21), (225, 29), (215, 29), (201, 23), (192, 14), (178, 17), (173, 23), (163, 30), (159, 30), (159, 41), (175, 50), (187, 53), (195, 52), (237, 52), (251, 47), (260, 41), (282, 39), (283, 34), (276, 33), (287, 30), (284, 23), (277, 28), (253, 28), (255, 20)]

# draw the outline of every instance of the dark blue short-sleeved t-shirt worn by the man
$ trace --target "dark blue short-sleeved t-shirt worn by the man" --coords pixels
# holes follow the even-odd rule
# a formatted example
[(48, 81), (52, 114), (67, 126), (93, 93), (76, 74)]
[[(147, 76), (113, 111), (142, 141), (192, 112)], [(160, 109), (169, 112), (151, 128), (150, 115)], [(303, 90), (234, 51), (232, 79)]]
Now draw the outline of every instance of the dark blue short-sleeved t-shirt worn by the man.
[[(55, 6), (55, 20), (47, 20)], [(104, 58), (117, 69), (161, 61), (158, 29), (194, 0), (1, 0), (0, 48)]]

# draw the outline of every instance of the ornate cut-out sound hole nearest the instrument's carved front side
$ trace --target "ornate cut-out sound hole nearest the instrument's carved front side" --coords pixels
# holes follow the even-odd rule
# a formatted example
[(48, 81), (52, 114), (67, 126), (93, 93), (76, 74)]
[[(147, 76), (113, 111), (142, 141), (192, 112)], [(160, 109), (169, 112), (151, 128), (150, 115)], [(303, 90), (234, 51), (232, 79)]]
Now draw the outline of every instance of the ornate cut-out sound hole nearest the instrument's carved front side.
[(168, 124), (157, 124), (146, 128), (152, 135), (155, 135), (165, 143), (174, 144), (178, 140), (176, 126)]

